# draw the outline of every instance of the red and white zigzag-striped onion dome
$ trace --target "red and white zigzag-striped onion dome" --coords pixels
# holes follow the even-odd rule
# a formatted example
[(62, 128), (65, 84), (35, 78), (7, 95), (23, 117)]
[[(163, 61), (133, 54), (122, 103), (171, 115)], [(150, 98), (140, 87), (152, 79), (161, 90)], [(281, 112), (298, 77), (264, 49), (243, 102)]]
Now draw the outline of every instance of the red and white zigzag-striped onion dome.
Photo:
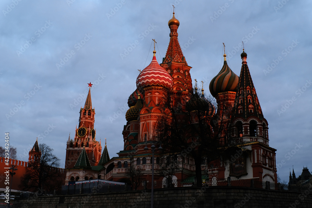
[(155, 56), (155, 50), (153, 53), (154, 56), (151, 63), (141, 71), (137, 78), (137, 88), (140, 91), (142, 91), (144, 87), (148, 86), (161, 86), (167, 89), (171, 89), (173, 85), (172, 78), (168, 72), (158, 64)]

